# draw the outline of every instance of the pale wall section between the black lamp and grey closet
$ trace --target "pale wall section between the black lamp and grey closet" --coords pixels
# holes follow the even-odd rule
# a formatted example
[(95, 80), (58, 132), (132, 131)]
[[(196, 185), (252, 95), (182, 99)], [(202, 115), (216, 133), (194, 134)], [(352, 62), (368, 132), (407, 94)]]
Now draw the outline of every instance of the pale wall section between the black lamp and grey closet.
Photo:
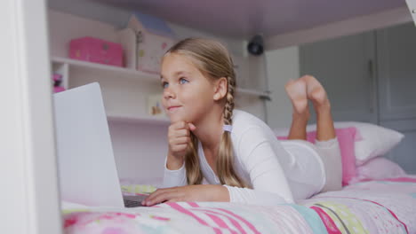
[(292, 104), (287, 98), (284, 84), (300, 77), (299, 47), (292, 46), (267, 51), (268, 90), (271, 102), (267, 102), (268, 125), (272, 128), (289, 128), (292, 122)]

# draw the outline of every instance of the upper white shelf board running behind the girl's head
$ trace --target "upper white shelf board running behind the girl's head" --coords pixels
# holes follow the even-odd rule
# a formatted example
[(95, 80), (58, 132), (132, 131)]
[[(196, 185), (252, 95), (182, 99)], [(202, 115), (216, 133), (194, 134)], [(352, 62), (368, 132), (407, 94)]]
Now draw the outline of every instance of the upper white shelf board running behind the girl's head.
[[(119, 66), (108, 66), (92, 62), (80, 61), (71, 58), (60, 58), (52, 57), (53, 63), (62, 63), (68, 64), (71, 67), (76, 67), (79, 69), (89, 69), (89, 70), (100, 70), (106, 74), (114, 74), (115, 76), (129, 77), (131, 79), (143, 80), (148, 82), (159, 82), (159, 75), (157, 74), (148, 74), (143, 73), (138, 70), (131, 68), (119, 67)], [(236, 89), (237, 93), (243, 94), (244, 96), (257, 96), (260, 98), (269, 98), (268, 92), (259, 91), (259, 90), (249, 90), (249, 89)]]

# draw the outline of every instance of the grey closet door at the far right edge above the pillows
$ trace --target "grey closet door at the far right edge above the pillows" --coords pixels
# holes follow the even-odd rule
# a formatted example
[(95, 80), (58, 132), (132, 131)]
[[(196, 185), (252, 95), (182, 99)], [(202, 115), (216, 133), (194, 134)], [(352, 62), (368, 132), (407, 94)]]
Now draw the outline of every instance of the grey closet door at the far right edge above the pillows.
[(380, 120), (416, 118), (416, 27), (379, 30), (377, 43)]

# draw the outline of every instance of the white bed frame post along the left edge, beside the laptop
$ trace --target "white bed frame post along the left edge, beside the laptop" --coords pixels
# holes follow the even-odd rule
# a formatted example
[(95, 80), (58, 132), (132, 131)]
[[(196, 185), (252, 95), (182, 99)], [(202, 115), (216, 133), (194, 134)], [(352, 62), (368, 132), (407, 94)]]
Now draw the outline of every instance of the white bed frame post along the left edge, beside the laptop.
[(0, 1), (0, 230), (62, 233), (45, 0)]

